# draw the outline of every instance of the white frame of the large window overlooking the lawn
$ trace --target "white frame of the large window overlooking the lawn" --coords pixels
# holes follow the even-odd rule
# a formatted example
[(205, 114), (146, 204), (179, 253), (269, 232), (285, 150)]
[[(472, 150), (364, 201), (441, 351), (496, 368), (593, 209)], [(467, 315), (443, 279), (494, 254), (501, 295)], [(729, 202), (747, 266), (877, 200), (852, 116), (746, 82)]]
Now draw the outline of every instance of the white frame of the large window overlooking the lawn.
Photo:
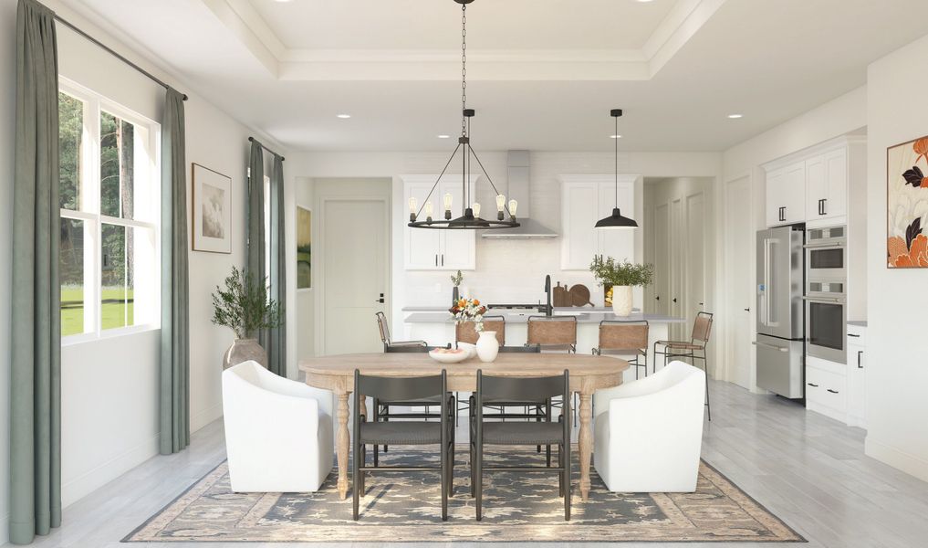
[[(161, 124), (64, 77), (58, 79), (58, 91), (84, 104), (79, 209), (60, 209), (62, 219), (84, 222), (84, 333), (62, 336), (61, 345), (68, 346), (161, 329)], [(109, 112), (148, 131), (146, 149), (148, 150), (149, 169), (148, 174), (141, 174), (143, 177), (148, 177), (148, 189), (145, 194), (135, 194), (136, 200), (148, 201), (148, 215), (145, 215), (148, 216), (148, 220), (124, 219), (100, 213), (100, 111)], [(103, 329), (103, 304), (101, 302), (103, 257), (100, 249), (103, 225), (144, 228), (150, 231), (154, 264), (146, 285), (151, 285), (157, 292), (148, 295), (150, 299), (148, 306), (155, 309), (144, 315), (148, 316), (148, 320), (142, 323), (135, 323), (135, 319), (138, 318), (136, 299), (133, 307), (134, 325)], [(135, 293), (137, 292), (134, 291), (134, 298)]]

